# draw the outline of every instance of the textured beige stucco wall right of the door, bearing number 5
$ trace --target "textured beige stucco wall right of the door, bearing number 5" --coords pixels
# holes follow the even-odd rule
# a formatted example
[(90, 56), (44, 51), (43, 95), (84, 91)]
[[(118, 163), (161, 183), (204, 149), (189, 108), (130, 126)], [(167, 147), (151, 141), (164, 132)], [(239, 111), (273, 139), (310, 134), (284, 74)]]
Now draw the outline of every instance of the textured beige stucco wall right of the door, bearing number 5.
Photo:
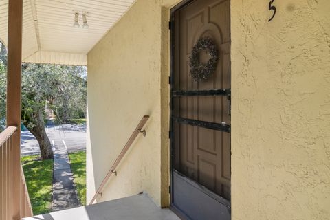
[(232, 219), (330, 219), (330, 1), (231, 2)]

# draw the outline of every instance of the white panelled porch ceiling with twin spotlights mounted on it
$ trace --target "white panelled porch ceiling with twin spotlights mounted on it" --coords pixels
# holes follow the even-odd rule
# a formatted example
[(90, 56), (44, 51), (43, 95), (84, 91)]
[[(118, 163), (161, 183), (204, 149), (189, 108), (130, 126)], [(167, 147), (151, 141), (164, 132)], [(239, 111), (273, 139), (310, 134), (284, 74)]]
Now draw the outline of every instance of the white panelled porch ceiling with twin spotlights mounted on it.
[[(135, 0), (23, 0), (23, 62), (87, 65), (87, 53)], [(89, 28), (75, 28), (87, 12)], [(0, 39), (7, 44), (8, 0), (0, 0)]]

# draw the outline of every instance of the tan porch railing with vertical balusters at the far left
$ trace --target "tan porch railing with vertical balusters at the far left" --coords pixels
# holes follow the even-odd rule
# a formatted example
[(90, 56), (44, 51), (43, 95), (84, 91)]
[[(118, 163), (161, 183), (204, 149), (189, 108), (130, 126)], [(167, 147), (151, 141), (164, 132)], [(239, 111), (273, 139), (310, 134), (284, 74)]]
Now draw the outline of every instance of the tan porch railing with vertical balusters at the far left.
[[(0, 219), (14, 219), (14, 206), (19, 206), (21, 210), (21, 217), (33, 216), (32, 206), (28, 188), (25, 184), (25, 177), (23, 168), (20, 166), (18, 170), (14, 170), (14, 142), (13, 135), (17, 131), (16, 126), (9, 126), (5, 131), (0, 133)], [(21, 174), (20, 188), (13, 187), (13, 173), (19, 172)], [(21, 195), (20, 203), (14, 204), (13, 194)]]

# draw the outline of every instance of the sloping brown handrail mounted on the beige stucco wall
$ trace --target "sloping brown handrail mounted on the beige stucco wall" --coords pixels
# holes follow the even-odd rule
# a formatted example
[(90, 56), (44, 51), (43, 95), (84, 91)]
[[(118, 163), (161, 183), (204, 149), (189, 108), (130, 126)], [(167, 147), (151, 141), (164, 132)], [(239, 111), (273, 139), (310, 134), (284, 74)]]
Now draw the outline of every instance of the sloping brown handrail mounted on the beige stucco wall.
[(109, 172), (107, 173), (107, 175), (104, 177), (102, 183), (98, 187), (98, 190), (96, 191), (93, 199), (91, 199), (91, 202), (89, 203), (89, 205), (93, 204), (94, 201), (97, 199), (97, 197), (99, 195), (102, 196), (102, 190), (103, 190), (104, 186), (107, 184), (107, 181), (109, 180), (109, 178), (111, 177), (111, 175), (113, 175), (113, 174), (117, 175), (116, 168), (117, 168), (118, 164), (120, 164), (120, 161), (122, 160), (122, 158), (124, 157), (124, 155), (126, 154), (126, 152), (129, 150), (129, 148), (133, 144), (133, 142), (134, 142), (135, 138), (137, 137), (137, 135), (139, 133), (143, 133), (144, 136), (146, 135), (146, 131), (145, 130), (142, 130), (142, 129), (143, 129), (144, 124), (146, 124), (146, 121), (148, 120), (148, 118), (149, 118), (148, 115), (144, 115), (142, 117), (140, 123), (137, 124), (136, 129), (133, 131), (131, 137), (129, 137), (129, 140), (126, 142), (124, 148), (122, 148), (122, 151), (118, 155), (117, 159), (115, 159), (115, 162), (111, 166), (111, 168), (110, 168)]

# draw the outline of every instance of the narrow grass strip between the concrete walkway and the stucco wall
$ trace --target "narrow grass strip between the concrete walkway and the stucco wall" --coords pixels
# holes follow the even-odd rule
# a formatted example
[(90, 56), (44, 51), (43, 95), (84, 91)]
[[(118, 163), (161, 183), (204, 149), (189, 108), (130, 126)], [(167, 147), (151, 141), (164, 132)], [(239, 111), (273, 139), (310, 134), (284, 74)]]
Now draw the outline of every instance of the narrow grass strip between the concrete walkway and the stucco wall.
[(79, 151), (69, 153), (72, 173), (74, 173), (74, 184), (82, 206), (86, 205), (86, 152)]

